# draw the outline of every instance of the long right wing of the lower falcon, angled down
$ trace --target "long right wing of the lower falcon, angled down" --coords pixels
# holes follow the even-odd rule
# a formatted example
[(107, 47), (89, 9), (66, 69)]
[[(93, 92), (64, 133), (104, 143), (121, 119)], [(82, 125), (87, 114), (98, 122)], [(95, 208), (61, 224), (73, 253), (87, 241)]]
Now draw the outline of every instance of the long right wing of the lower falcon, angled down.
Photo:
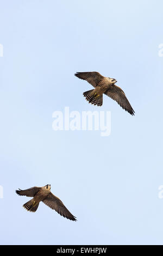
[(61, 216), (64, 216), (69, 220), (76, 221), (76, 217), (74, 217), (71, 212), (67, 210), (61, 200), (58, 197), (55, 197), (51, 192), (45, 199), (42, 200), (42, 202), (49, 206), (51, 209), (57, 211)]

